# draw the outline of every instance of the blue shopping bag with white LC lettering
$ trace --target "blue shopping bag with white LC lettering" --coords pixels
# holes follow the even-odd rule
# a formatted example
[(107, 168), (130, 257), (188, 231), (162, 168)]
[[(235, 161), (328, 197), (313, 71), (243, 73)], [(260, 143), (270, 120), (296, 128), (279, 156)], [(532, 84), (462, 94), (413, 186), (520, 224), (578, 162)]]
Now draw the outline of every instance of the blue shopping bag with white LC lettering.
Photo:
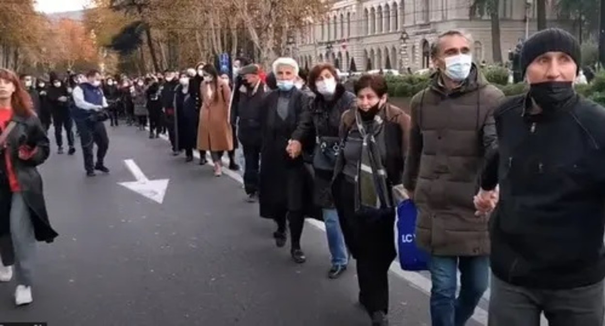
[(397, 205), (397, 248), (403, 270), (428, 270), (428, 254), (416, 247), (416, 205), (405, 199)]

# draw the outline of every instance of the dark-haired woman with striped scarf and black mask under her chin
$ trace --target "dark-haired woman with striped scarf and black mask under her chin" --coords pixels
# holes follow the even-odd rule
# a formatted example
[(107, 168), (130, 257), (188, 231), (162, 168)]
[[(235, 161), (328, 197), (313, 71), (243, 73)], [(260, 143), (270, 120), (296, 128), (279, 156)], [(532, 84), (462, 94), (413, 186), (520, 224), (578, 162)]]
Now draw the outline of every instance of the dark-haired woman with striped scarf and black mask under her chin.
[[(396, 203), (401, 185), (410, 116), (387, 102), (382, 75), (355, 83), (356, 107), (342, 115), (342, 139), (332, 194), (345, 242), (357, 261), (359, 304), (372, 326), (388, 325), (388, 268), (396, 256)], [(378, 204), (377, 204), (378, 203)]]

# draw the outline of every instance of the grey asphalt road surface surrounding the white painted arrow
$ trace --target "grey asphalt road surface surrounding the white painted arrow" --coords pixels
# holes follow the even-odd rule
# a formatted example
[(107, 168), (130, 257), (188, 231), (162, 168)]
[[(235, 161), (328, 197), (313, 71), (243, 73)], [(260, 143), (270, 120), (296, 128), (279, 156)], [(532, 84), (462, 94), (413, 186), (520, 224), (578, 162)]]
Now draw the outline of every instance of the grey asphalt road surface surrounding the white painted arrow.
[[(321, 223), (306, 224), (308, 260), (296, 265), (287, 247), (275, 247), (272, 222), (244, 202), (238, 175), (215, 178), (211, 167), (174, 158), (165, 139), (134, 127), (108, 130), (110, 175), (85, 178), (80, 148), (56, 155), (53, 145), (41, 171), (60, 236), (39, 245), (33, 304), (16, 308), (14, 282), (0, 284), (0, 324), (369, 324), (356, 305), (355, 262), (327, 279)], [(126, 159), (149, 180), (169, 179), (161, 204), (119, 184), (136, 181)], [(392, 270), (391, 325), (430, 325), (426, 276)], [(485, 310), (482, 301), (468, 325), (484, 325)]]

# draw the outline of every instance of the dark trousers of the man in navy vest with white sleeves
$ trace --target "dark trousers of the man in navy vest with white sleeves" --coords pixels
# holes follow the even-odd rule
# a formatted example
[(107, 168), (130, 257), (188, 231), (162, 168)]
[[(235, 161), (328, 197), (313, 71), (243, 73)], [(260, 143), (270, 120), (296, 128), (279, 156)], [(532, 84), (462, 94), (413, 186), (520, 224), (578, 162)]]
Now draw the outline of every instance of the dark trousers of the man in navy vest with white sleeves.
[[(110, 146), (107, 130), (103, 122), (78, 121), (80, 130), (80, 142), (82, 142), (82, 153), (84, 155), (84, 168), (93, 171), (95, 166), (105, 164), (105, 155)], [(93, 148), (97, 144), (97, 164), (94, 164)]]

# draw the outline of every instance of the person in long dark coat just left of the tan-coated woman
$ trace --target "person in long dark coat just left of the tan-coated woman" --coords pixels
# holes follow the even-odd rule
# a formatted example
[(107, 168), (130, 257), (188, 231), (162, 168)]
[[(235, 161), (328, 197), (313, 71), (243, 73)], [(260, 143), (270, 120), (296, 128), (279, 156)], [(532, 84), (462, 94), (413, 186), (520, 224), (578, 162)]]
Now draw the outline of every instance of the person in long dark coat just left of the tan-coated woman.
[(181, 73), (177, 90), (174, 95), (176, 116), (176, 142), (178, 150), (184, 150), (186, 162), (193, 161), (193, 149), (197, 146), (197, 128), (199, 112), (195, 107), (195, 98), (189, 91), (189, 74)]

